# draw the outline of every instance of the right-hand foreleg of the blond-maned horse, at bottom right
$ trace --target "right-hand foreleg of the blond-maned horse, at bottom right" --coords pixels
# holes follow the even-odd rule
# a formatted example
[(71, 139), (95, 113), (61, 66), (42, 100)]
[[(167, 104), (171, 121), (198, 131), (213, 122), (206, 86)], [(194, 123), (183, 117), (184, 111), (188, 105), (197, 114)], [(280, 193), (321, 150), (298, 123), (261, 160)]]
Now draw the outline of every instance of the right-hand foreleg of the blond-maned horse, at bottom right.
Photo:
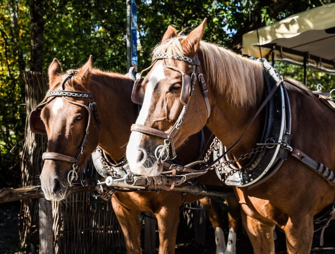
[(313, 242), (313, 217), (299, 214), (284, 226), (287, 253), (310, 253)]

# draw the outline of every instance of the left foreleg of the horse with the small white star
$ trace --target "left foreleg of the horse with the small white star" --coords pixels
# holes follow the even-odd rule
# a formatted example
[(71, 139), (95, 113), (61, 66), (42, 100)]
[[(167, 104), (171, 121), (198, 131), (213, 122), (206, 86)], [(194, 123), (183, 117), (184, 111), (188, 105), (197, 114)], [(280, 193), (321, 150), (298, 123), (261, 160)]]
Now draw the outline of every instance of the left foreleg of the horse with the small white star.
[(112, 206), (124, 235), (127, 254), (141, 254), (141, 230), (139, 221), (140, 211), (129, 209), (126, 205), (120, 202), (117, 197), (118, 195), (122, 194), (114, 193), (112, 195)]

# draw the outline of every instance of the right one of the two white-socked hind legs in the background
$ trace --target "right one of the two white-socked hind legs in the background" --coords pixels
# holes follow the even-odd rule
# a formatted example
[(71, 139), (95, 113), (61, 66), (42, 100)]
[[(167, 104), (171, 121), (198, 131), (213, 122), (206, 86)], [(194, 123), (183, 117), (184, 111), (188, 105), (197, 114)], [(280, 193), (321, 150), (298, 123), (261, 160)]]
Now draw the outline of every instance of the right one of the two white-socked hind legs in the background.
[(236, 196), (227, 197), (229, 234), (225, 254), (236, 253), (236, 240), (239, 225), (241, 223), (241, 206)]

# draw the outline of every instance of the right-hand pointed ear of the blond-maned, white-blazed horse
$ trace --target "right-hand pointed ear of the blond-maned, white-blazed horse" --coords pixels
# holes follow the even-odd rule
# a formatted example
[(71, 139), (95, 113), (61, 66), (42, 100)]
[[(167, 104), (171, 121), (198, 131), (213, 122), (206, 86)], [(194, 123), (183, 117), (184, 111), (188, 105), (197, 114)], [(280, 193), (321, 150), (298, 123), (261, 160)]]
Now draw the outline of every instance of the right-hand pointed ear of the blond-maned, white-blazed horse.
[(182, 41), (181, 44), (185, 54), (193, 55), (199, 49), (200, 40), (205, 33), (206, 21), (207, 18), (205, 18), (203, 22), (191, 31), (187, 38)]

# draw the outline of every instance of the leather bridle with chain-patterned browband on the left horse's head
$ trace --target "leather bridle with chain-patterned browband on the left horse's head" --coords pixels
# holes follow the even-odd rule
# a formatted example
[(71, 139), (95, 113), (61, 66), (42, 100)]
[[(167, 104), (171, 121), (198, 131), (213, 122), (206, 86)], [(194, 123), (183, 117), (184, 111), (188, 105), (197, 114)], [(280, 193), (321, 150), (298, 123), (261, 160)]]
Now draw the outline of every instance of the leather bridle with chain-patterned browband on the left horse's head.
[[(75, 157), (72, 156), (68, 156), (62, 153), (58, 153), (58, 152), (44, 152), (42, 154), (42, 160), (52, 160), (52, 161), (62, 161), (62, 162), (68, 162), (72, 164), (72, 170), (68, 173), (68, 182), (69, 185), (72, 186), (72, 181), (73, 180), (77, 180), (78, 178), (78, 161), (79, 161), (79, 157), (81, 154), (84, 153), (85, 150), (85, 146), (86, 146), (86, 141), (88, 139), (88, 133), (89, 133), (89, 128), (90, 128), (90, 124), (91, 124), (91, 120), (92, 120), (92, 115), (94, 115), (95, 121), (99, 126), (101, 125), (101, 121), (98, 115), (98, 111), (97, 111), (97, 106), (96, 103), (93, 101), (93, 94), (92, 93), (88, 93), (88, 92), (77, 92), (77, 91), (66, 91), (64, 90), (65, 88), (65, 83), (70, 80), (72, 77), (75, 77), (78, 74), (78, 72), (75, 71), (71, 71), (69, 72), (66, 77), (64, 78), (64, 80), (62, 81), (62, 83), (60, 84), (58, 90), (52, 90), (48, 92), (48, 96), (46, 97), (46, 99), (44, 100), (44, 102), (42, 102), (41, 104), (39, 104), (37, 106), (37, 108), (31, 112), (41, 112), (42, 108), (44, 108), (47, 104), (49, 104), (53, 99), (55, 99), (56, 97), (61, 97), (63, 98), (65, 101), (74, 104), (76, 106), (85, 108), (88, 112), (88, 120), (87, 120), (87, 125), (86, 125), (86, 131), (85, 131), (85, 136), (81, 142), (81, 145), (75, 155)], [(66, 97), (71, 97), (71, 98), (80, 98), (80, 99), (87, 99), (88, 100), (88, 105), (84, 105), (81, 103), (77, 103), (74, 101), (70, 101), (69, 99), (67, 99)], [(48, 100), (48, 98), (51, 98), (50, 100)]]

